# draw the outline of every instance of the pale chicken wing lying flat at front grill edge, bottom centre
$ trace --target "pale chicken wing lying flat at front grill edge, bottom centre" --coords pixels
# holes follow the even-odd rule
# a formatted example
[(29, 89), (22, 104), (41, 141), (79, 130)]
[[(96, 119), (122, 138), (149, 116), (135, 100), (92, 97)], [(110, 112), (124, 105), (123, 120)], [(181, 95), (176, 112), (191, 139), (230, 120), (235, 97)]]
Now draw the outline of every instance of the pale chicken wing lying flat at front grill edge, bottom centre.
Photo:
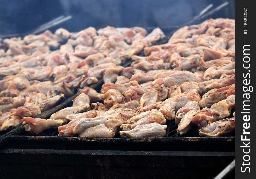
[(166, 136), (166, 125), (156, 122), (150, 124), (138, 125), (129, 131), (120, 131), (121, 137), (163, 137)]

